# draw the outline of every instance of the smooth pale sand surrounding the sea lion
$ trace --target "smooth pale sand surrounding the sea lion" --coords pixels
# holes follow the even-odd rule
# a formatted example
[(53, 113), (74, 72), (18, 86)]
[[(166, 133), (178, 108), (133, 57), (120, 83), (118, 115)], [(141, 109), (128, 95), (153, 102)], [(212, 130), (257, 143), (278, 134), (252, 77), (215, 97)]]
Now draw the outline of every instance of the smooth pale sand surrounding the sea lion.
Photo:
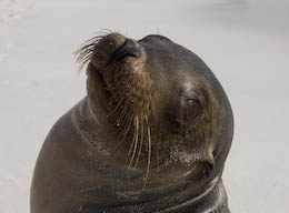
[(231, 212), (289, 212), (288, 11), (287, 0), (0, 0), (0, 213), (29, 213), (41, 144), (86, 94), (71, 53), (100, 29), (159, 31), (198, 53), (235, 112)]

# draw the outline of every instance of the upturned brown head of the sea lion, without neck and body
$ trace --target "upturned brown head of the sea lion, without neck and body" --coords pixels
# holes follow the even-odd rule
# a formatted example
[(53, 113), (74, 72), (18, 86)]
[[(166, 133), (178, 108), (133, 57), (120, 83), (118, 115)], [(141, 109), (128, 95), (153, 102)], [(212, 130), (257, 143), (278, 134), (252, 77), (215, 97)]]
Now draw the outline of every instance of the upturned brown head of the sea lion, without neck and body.
[(92, 111), (100, 104), (106, 111), (123, 163), (143, 174), (140, 185), (193, 183), (197, 192), (221, 175), (232, 113), (195, 53), (161, 36), (132, 40), (111, 33), (89, 41), (79, 61), (89, 62)]

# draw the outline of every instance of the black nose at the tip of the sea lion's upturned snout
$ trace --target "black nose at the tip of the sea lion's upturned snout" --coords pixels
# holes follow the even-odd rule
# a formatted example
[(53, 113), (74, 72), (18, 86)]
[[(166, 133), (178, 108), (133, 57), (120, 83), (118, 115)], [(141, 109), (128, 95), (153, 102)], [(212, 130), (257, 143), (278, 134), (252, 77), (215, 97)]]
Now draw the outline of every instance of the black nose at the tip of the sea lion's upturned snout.
[(121, 61), (123, 61), (123, 59), (126, 59), (128, 57), (140, 59), (141, 50), (140, 50), (139, 45), (140, 44), (137, 43), (137, 41), (134, 41), (132, 39), (126, 39), (123, 44), (112, 53), (110, 63), (111, 62), (121, 62)]

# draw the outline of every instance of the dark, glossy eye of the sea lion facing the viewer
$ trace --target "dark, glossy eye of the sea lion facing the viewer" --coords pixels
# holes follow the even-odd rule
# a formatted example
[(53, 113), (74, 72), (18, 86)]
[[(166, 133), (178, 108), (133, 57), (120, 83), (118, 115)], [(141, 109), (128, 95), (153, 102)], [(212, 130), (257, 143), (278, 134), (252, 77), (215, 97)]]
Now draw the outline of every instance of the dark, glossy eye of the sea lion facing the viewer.
[(200, 111), (200, 101), (197, 99), (183, 99), (181, 103), (181, 120), (192, 121)]

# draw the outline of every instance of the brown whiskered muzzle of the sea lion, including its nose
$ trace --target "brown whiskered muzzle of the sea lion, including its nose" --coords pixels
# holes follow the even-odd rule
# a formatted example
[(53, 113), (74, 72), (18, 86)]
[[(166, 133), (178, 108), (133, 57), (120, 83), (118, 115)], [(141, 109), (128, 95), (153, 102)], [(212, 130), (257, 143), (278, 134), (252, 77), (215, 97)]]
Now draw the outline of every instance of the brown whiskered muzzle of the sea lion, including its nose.
[[(101, 91), (109, 94), (107, 102), (112, 108), (129, 105), (132, 116), (146, 110), (143, 105), (149, 104), (150, 91), (147, 88), (150, 88), (150, 78), (143, 70), (146, 52), (137, 41), (110, 33), (89, 40), (76, 55), (81, 65), (88, 63), (88, 78), (91, 74), (97, 80), (88, 83), (92, 89), (102, 88)], [(137, 103), (139, 101), (140, 104)]]

